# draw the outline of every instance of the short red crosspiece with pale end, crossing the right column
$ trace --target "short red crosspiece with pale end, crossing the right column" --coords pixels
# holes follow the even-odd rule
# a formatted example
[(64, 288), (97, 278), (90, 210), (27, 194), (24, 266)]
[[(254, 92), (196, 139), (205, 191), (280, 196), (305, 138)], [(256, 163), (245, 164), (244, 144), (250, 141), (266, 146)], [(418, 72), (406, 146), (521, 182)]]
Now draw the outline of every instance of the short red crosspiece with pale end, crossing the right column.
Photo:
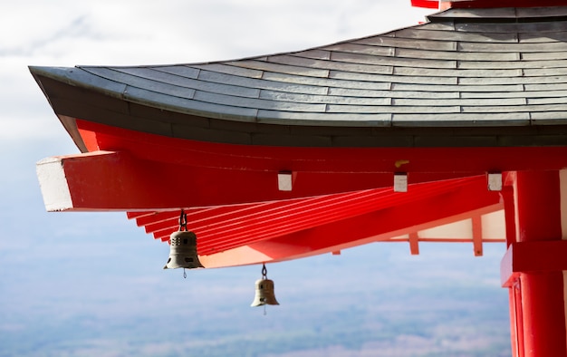
[(500, 279), (503, 287), (510, 287), (520, 273), (562, 270), (567, 270), (567, 240), (517, 242), (502, 258)]

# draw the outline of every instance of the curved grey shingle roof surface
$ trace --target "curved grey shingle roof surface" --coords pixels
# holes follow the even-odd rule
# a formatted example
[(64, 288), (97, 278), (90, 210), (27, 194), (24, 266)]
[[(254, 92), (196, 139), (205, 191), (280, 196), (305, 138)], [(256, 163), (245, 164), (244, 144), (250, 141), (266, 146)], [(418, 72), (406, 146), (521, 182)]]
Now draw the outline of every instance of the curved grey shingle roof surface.
[(318, 127), (567, 123), (567, 6), (449, 9), (428, 23), (216, 63), (34, 73), (225, 121)]

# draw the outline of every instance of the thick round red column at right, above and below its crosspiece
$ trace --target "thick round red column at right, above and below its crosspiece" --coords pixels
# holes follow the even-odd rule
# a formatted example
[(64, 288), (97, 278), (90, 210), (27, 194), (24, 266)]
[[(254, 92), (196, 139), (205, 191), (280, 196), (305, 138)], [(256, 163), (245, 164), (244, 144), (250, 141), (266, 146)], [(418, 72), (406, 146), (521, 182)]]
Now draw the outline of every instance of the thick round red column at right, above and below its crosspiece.
[[(518, 172), (515, 188), (517, 241), (561, 240), (559, 172)], [(519, 288), (524, 346), (518, 355), (567, 356), (562, 272), (521, 273)]]

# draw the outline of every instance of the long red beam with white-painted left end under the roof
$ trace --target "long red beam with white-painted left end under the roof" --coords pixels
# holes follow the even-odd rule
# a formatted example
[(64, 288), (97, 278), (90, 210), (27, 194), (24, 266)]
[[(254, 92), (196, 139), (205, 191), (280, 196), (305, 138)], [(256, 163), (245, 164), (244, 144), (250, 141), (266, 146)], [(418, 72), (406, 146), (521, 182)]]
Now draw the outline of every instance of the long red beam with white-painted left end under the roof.
[(393, 175), (300, 172), (293, 191), (283, 192), (277, 171), (166, 164), (124, 151), (45, 159), (37, 171), (48, 210), (170, 210), (307, 198), (389, 188)]

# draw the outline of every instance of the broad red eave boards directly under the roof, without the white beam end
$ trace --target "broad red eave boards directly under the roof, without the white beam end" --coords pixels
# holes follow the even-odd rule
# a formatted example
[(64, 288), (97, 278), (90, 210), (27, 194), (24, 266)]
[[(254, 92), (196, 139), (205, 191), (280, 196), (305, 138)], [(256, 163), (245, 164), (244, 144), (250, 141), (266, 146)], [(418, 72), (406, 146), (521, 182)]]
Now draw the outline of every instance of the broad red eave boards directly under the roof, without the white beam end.
[[(411, 186), (487, 171), (567, 167), (567, 148), (562, 147), (250, 147), (78, 123), (91, 150), (112, 152), (61, 159), (72, 194), (72, 207), (62, 209), (155, 211), (312, 198), (389, 189), (399, 170), (408, 173)], [(277, 173), (283, 169), (295, 175), (292, 191), (278, 189)]]

